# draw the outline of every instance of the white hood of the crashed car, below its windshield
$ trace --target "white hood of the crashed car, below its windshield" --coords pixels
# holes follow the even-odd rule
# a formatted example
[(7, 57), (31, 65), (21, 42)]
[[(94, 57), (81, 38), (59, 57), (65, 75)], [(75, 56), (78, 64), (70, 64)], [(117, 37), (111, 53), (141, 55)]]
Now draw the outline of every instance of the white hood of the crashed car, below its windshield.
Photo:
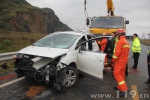
[(69, 49), (28, 46), (20, 50), (19, 53), (41, 56), (41, 57), (55, 58), (57, 56), (66, 54), (68, 51)]

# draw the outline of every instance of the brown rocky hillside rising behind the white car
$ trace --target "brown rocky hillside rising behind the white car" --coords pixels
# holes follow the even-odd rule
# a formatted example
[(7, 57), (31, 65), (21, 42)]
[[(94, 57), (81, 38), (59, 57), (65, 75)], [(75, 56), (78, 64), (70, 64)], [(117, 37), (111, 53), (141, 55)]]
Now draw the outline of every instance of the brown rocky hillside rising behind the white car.
[(0, 0), (0, 30), (51, 33), (72, 30), (50, 8), (38, 8), (25, 0)]

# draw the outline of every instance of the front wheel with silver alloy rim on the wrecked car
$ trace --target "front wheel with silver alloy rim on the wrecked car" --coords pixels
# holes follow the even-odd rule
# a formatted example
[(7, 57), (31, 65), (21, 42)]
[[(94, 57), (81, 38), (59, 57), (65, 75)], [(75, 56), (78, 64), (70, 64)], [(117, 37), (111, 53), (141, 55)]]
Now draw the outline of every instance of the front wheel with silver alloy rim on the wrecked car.
[(63, 81), (63, 85), (67, 88), (70, 88), (75, 85), (78, 79), (78, 72), (73, 67), (67, 67), (67, 71), (65, 73), (65, 79)]

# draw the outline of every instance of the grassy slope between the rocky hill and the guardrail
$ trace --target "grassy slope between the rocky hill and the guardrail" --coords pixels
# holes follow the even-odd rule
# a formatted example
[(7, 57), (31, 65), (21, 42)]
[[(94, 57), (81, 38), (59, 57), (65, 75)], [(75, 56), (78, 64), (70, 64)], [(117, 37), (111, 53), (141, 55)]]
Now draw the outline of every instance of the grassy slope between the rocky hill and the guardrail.
[(0, 30), (0, 53), (19, 51), (46, 35)]

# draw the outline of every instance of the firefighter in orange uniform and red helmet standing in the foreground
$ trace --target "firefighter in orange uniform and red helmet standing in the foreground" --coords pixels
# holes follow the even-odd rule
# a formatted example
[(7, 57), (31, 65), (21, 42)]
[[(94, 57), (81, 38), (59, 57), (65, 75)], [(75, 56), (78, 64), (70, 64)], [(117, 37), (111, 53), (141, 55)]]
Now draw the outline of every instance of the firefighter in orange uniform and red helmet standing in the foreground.
[(116, 32), (119, 37), (114, 49), (112, 63), (114, 63), (114, 77), (118, 86), (114, 87), (114, 89), (119, 90), (119, 96), (122, 97), (128, 90), (125, 82), (125, 69), (128, 62), (130, 44), (125, 38), (125, 32), (123, 29), (118, 29)]

